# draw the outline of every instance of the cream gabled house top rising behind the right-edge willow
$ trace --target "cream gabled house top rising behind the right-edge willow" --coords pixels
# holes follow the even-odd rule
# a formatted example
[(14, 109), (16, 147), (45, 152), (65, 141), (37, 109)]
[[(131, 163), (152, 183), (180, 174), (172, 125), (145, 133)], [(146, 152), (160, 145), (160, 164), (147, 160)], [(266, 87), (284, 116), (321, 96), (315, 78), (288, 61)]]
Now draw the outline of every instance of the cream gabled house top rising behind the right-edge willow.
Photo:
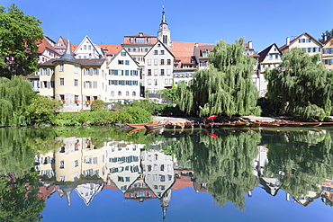
[(314, 39), (309, 33), (304, 32), (293, 40), (290, 40), (290, 38), (287, 37), (286, 43), (280, 48), (280, 51), (284, 54), (288, 49), (293, 48), (303, 49), (312, 56), (321, 53), (322, 44), (319, 40)]

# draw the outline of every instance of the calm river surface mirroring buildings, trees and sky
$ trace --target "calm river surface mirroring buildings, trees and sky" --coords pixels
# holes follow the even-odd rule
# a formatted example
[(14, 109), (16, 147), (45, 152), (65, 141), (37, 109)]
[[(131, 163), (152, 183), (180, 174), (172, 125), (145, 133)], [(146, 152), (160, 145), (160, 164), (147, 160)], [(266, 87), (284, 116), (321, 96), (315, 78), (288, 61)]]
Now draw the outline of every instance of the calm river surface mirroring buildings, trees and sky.
[(332, 129), (0, 129), (0, 221), (332, 220)]

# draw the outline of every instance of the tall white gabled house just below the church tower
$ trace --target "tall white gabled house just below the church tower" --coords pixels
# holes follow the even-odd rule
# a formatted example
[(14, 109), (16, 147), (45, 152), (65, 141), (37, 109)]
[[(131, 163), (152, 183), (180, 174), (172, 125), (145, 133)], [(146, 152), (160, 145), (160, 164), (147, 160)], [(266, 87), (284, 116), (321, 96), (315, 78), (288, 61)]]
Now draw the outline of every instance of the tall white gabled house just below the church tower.
[(143, 83), (148, 93), (171, 87), (173, 84), (174, 55), (161, 42), (157, 43), (144, 57), (146, 74)]

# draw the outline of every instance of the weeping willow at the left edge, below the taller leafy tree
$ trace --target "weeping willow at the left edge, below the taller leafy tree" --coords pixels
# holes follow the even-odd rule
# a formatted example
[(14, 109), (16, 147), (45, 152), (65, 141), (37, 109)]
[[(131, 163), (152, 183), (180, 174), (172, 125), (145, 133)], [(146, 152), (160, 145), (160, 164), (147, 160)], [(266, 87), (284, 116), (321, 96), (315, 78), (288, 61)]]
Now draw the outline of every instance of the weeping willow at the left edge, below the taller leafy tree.
[(31, 84), (22, 76), (0, 77), (0, 126), (27, 125), (25, 110), (34, 96)]

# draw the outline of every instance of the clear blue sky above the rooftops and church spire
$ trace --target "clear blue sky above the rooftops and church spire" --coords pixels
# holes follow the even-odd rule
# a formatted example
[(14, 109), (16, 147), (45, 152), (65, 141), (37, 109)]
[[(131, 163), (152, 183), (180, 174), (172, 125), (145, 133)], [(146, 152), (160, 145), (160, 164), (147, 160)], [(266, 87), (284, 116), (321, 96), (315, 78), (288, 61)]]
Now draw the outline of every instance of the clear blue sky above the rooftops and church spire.
[(245, 37), (260, 52), (272, 43), (283, 46), (286, 37), (306, 31), (319, 39), (333, 28), (331, 0), (320, 4), (309, 0), (0, 1), (4, 6), (13, 3), (39, 18), (45, 35), (53, 40), (61, 35), (73, 44), (85, 35), (95, 44), (112, 45), (139, 31), (157, 36), (162, 5), (173, 41), (232, 43)]

